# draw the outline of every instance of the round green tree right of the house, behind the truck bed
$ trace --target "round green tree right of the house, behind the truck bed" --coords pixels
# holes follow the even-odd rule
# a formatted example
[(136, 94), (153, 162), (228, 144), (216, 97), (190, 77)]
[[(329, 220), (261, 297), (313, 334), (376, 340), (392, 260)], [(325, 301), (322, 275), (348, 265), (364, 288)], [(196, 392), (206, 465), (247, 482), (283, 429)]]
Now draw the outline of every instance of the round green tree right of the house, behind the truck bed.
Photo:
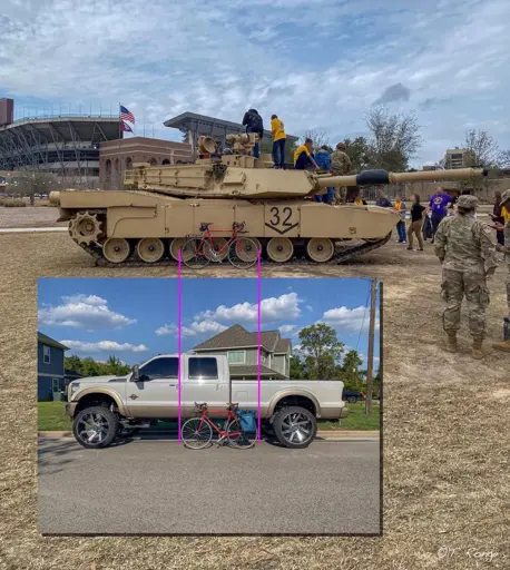
[(342, 356), (344, 344), (334, 328), (316, 323), (300, 332), (301, 350), (305, 354), (305, 367), (310, 380), (331, 380), (336, 361)]

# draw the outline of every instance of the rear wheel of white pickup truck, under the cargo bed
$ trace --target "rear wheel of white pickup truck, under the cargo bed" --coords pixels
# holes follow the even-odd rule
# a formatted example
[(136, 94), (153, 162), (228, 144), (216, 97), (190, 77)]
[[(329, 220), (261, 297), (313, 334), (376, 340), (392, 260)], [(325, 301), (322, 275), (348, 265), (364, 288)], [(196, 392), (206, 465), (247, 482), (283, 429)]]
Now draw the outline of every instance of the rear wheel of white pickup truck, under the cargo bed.
[(279, 410), (273, 421), (277, 440), (285, 448), (307, 448), (317, 433), (317, 421), (304, 407), (290, 406)]

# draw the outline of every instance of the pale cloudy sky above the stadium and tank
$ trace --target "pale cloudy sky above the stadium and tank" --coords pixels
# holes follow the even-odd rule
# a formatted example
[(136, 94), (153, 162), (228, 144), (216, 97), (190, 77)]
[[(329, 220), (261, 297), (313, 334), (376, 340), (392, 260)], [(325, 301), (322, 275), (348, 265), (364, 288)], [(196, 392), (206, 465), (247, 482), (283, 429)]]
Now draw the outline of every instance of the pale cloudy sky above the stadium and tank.
[[(0, 97), (29, 107), (136, 118), (136, 135), (180, 140), (184, 111), (241, 121), (249, 107), (288, 134), (366, 135), (383, 104), (415, 110), (413, 166), (468, 129), (510, 148), (508, 0), (1, 0)], [(145, 131), (144, 131), (145, 125)]]

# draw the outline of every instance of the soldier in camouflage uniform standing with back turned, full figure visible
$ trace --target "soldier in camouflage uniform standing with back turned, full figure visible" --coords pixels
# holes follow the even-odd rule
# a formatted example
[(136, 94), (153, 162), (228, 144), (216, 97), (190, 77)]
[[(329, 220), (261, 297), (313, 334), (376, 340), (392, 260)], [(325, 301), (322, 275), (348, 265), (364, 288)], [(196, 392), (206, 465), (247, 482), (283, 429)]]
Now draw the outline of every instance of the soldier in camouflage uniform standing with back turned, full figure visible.
[(448, 335), (447, 350), (457, 352), (462, 298), (465, 296), (469, 330), (473, 337), (472, 356), (483, 358), (486, 308), (489, 306), (487, 277), (496, 267), (496, 247), (489, 228), (474, 218), (478, 199), (460, 196), (457, 213), (444, 217), (435, 233), (435, 255), (443, 266), (442, 294), (447, 302), (443, 328)]

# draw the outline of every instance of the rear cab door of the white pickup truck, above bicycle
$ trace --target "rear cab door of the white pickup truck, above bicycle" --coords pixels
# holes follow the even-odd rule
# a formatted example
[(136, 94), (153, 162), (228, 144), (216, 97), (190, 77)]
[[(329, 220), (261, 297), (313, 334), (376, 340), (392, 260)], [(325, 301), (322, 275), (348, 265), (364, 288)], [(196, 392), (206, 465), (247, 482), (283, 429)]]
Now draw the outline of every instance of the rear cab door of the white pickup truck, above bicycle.
[(183, 381), (183, 416), (195, 414), (195, 402), (209, 409), (225, 410), (229, 399), (229, 373), (226, 358), (188, 356)]

